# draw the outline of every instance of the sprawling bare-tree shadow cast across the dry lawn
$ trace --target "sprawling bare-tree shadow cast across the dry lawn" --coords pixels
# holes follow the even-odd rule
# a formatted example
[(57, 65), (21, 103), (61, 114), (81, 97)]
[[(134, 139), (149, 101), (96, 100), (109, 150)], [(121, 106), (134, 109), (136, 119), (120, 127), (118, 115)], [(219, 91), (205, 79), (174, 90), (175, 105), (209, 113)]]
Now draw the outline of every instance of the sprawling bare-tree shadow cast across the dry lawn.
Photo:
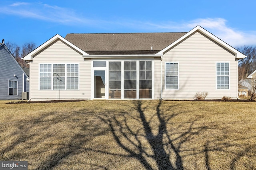
[[(4, 160), (24, 159), (26, 155), (24, 156), (21, 152), (11, 152), (23, 144), (22, 150), (32, 150), (30, 154), (38, 160), (38, 162), (33, 160), (32, 163), (33, 169), (37, 170), (54, 169), (58, 168), (59, 165), (61, 167), (62, 164), (65, 164), (63, 162), (65, 158), (88, 151), (119, 158), (135, 158), (148, 170), (202, 169), (202, 166), (197, 167), (197, 165), (191, 166), (192, 168), (188, 167), (188, 164), (196, 164), (196, 160), (189, 160), (189, 162), (184, 163), (187, 157), (198, 155), (202, 155), (201, 159), (204, 159), (202, 162), (204, 162), (203, 167), (205, 169), (216, 169), (216, 166), (212, 164), (214, 161), (212, 160), (212, 152), (230, 154), (232, 157), (232, 160), (228, 162), (230, 169), (236, 169), (237, 163), (242, 161), (240, 159), (243, 156), (249, 157), (249, 154), (252, 153), (250, 159), (255, 158), (255, 145), (234, 144), (234, 141), (220, 141), (220, 139), (215, 138), (203, 139), (204, 145), (200, 146), (202, 149), (194, 147), (196, 149), (193, 150), (192, 145), (195, 145), (197, 136), (207, 134), (213, 129), (220, 131), (225, 131), (225, 129), (220, 129), (218, 123), (213, 125), (198, 123), (204, 119), (204, 115), (200, 114), (190, 116), (188, 119), (177, 123), (175, 119), (179, 116), (189, 115), (188, 111), (184, 113), (184, 111), (177, 110), (176, 108), (180, 106), (175, 103), (168, 105), (168, 107), (162, 106), (162, 102), (159, 100), (156, 106), (152, 106), (150, 103), (147, 104), (138, 100), (133, 102), (133, 106), (125, 106), (130, 109), (126, 111), (114, 110), (114, 108), (105, 109), (105, 106), (101, 106), (102, 112), (98, 109), (89, 111), (85, 108), (71, 113), (43, 113), (40, 117), (20, 120), (15, 125), (17, 130), (10, 134), (16, 139), (8, 145), (0, 147), (0, 158), (4, 158)], [(98, 120), (98, 124), (95, 124), (95, 120)], [(70, 123), (69, 131), (72, 131), (73, 128), (80, 130), (74, 133), (69, 132), (66, 135), (58, 135), (58, 131), (61, 132), (62, 129), (53, 131), (52, 128), (60, 128), (59, 125), (62, 123)], [(34, 130), (32, 131), (32, 129)], [(92, 139), (103, 135), (112, 136), (116, 145), (125, 152), (109, 151), (104, 147), (90, 147), (93, 145)], [(55, 140), (66, 140), (66, 142), (54, 143)], [(246, 140), (239, 139), (238, 141)], [(34, 151), (34, 148), (40, 148), (41, 145), (44, 148)], [(102, 145), (108, 144), (102, 141)], [(229, 150), (231, 147), (240, 147), (241, 149), (237, 152)], [(8, 157), (4, 157), (6, 152), (8, 152)], [(42, 156), (40, 159), (40, 155), (45, 153), (47, 156)], [(254, 158), (252, 158), (253, 155)], [(82, 164), (83, 162), (79, 163)], [(30, 160), (28, 160), (28, 164), (31, 165)], [(252, 169), (253, 165), (255, 164), (252, 164)], [(88, 163), (84, 163), (85, 166), (88, 166)], [(104, 166), (100, 161), (89, 166), (94, 167), (94, 169), (110, 169), (108, 165)]]

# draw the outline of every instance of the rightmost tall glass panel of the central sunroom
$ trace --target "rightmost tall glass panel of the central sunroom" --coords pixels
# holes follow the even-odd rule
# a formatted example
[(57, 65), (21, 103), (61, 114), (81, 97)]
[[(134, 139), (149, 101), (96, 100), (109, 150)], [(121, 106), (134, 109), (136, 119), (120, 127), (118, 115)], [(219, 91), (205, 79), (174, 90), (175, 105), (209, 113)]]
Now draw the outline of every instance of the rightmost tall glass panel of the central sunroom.
[(140, 98), (152, 98), (151, 61), (140, 61)]

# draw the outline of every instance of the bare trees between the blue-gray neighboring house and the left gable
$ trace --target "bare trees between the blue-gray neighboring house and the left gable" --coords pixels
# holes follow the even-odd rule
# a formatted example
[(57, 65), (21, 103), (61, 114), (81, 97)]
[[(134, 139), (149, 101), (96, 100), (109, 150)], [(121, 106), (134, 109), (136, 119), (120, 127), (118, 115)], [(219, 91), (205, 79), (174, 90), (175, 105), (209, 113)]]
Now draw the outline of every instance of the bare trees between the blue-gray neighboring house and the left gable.
[(12, 53), (16, 61), (20, 64), (20, 66), (29, 68), (29, 64), (26, 63), (26, 61), (22, 60), (21, 58), (25, 57), (28, 53), (36, 49), (35, 43), (33, 42), (24, 43), (24, 45), (22, 45), (21, 52), (20, 52), (20, 46), (18, 46), (16, 43), (7, 42), (5, 43), (5, 45), (9, 49), (9, 51)]

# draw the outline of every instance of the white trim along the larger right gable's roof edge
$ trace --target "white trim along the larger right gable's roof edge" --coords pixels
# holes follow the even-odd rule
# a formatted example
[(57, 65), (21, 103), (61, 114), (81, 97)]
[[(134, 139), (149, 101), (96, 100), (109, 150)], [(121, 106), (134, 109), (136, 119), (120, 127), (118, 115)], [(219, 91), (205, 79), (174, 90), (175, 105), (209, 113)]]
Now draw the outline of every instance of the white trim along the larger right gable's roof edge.
[(222, 41), (221, 39), (219, 39), (218, 37), (216, 37), (212, 33), (206, 31), (206, 29), (200, 27), (199, 25), (194, 27), (192, 30), (190, 30), (188, 33), (186, 33), (185, 35), (183, 35), (182, 37), (180, 37), (179, 39), (177, 39), (176, 41), (174, 41), (170, 45), (168, 45), (166, 48), (164, 48), (161, 51), (159, 51), (158, 53), (156, 53), (156, 55), (161, 55), (161, 54), (165, 53), (168, 49), (170, 49), (174, 45), (180, 43), (182, 40), (186, 39), (188, 36), (190, 36), (192, 33), (196, 32), (196, 31), (200, 31), (200, 33), (203, 33), (204, 35), (206, 35), (210, 39), (214, 40), (216, 43), (222, 45), (223, 47), (225, 47), (229, 51), (233, 52), (236, 56), (236, 59), (242, 59), (242, 58), (246, 57), (244, 54), (240, 53), (238, 50), (234, 49), (233, 47), (231, 47), (230, 45), (228, 45), (227, 43), (225, 43), (224, 41)]

